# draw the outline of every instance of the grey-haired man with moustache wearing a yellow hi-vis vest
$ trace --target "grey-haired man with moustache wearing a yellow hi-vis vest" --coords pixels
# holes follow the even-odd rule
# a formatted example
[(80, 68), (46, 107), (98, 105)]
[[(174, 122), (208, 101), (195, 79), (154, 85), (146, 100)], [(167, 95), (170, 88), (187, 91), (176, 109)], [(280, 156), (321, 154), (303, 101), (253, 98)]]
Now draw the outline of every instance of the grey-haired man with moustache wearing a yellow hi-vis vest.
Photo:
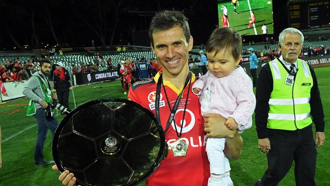
[(303, 43), (300, 30), (284, 29), (279, 36), (282, 55), (259, 73), (255, 122), (258, 148), (267, 153), (268, 169), (255, 185), (277, 185), (292, 161), (296, 185), (315, 185), (315, 146), (324, 144), (324, 114), (315, 72), (298, 58)]

